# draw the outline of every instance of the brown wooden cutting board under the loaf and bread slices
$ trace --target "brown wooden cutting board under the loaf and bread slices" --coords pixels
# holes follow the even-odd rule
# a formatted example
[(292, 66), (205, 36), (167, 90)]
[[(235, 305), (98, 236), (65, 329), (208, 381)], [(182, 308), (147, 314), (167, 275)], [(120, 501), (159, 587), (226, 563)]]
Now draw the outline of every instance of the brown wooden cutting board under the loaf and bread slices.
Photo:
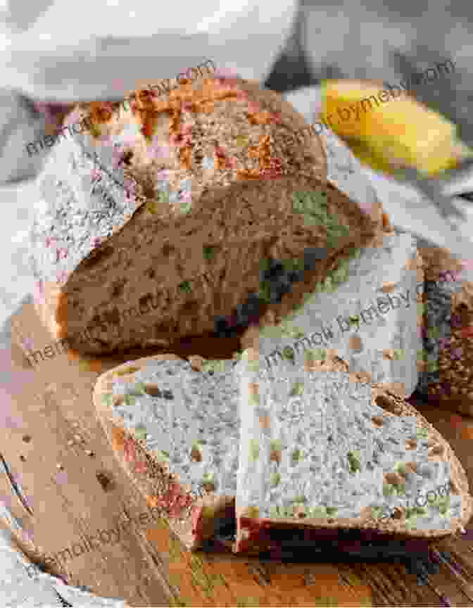
[[(208, 338), (176, 354), (222, 357), (236, 348)], [(153, 519), (115, 461), (92, 405), (99, 374), (156, 352), (82, 357), (51, 341), (32, 304), (13, 317), (11, 353), (0, 361), (9, 379), (0, 451), (33, 514), (15, 498), (6, 477), (0, 477), (0, 489), (32, 537), (32, 545), (24, 538), (18, 542), (35, 563), (70, 585), (125, 598), (132, 606), (473, 604), (473, 526), (461, 538), (434, 544), (431, 564), (435, 557), (439, 570), (426, 574), (423, 584), (404, 562), (388, 559), (335, 554), (324, 562), (327, 554), (303, 550), (258, 559), (232, 555), (221, 544), (208, 552), (184, 550), (165, 521)], [(453, 445), (471, 484), (473, 419), (412, 403)]]

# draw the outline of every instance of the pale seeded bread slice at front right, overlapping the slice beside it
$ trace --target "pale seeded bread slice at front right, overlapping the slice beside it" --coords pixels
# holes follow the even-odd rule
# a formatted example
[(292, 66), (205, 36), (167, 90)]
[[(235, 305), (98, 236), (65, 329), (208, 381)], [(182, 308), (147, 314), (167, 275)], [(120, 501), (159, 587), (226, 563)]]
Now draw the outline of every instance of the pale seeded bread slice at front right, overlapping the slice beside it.
[(396, 393), (357, 374), (281, 363), (248, 349), (236, 368), (241, 444), (234, 550), (275, 546), (272, 531), (333, 528), (436, 538), (473, 512), (450, 445)]

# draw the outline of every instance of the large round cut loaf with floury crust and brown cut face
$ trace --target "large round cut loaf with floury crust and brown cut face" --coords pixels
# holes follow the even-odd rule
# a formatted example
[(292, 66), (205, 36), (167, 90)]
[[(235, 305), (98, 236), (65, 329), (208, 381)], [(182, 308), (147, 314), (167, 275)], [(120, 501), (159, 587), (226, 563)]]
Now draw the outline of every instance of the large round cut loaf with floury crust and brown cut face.
[[(53, 149), (31, 240), (37, 309), (82, 352), (247, 327), (379, 229), (378, 208), (367, 215), (326, 182), (301, 115), (254, 83), (182, 82), (75, 118), (92, 129)], [(261, 279), (267, 260), (294, 266), (277, 296)]]

